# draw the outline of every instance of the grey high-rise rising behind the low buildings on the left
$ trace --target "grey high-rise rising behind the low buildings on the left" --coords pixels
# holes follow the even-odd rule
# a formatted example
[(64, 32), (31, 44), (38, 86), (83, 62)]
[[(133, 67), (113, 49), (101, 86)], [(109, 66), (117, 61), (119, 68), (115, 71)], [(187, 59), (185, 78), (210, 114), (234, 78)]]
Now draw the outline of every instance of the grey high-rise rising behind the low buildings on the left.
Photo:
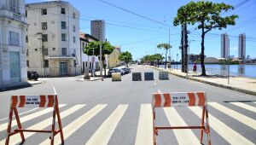
[(90, 35), (105, 41), (105, 20), (90, 20)]

